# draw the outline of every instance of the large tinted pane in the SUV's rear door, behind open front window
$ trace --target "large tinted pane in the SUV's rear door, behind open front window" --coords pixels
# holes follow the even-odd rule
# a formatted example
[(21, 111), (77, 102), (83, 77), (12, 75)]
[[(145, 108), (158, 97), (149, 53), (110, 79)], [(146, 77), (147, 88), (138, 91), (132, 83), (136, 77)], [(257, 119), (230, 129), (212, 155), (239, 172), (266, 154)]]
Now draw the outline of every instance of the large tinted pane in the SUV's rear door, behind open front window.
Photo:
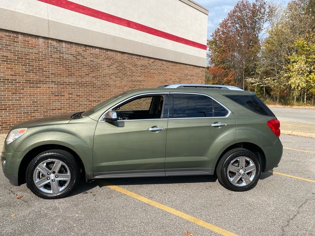
[(213, 100), (195, 94), (173, 94), (170, 118), (213, 117)]

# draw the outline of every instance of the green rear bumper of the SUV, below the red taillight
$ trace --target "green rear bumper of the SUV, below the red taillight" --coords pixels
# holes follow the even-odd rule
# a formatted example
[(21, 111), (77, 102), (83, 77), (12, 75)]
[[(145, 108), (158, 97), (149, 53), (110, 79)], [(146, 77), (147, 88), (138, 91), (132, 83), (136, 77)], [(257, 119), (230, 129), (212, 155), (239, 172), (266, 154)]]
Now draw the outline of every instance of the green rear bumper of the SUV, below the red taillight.
[(264, 147), (262, 150), (265, 153), (266, 159), (265, 168), (262, 171), (267, 172), (275, 167), (278, 167), (283, 153), (283, 146), (280, 139), (278, 139), (274, 145)]

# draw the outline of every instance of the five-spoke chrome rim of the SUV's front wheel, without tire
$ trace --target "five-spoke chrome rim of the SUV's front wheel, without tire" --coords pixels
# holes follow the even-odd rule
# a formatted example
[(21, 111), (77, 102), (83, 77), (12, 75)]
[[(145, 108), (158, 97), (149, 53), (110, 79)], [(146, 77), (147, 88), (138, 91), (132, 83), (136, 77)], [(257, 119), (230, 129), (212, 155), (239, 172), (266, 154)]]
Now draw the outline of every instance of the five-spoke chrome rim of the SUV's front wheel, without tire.
[(68, 166), (58, 159), (39, 163), (33, 172), (35, 186), (42, 192), (58, 195), (65, 190), (71, 179)]

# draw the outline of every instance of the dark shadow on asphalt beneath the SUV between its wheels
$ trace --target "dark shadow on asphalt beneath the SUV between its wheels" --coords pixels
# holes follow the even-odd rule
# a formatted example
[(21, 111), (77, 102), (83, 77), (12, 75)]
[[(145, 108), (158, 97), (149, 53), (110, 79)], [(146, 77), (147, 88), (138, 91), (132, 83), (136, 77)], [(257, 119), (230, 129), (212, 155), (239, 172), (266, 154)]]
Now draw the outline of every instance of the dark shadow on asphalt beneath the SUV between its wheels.
[(80, 180), (77, 187), (69, 194), (87, 194), (95, 187), (109, 185), (142, 185), (142, 184), (174, 184), (174, 183), (207, 183), (217, 181), (216, 176), (173, 176), (173, 177), (129, 177), (129, 178), (104, 178), (86, 182)]

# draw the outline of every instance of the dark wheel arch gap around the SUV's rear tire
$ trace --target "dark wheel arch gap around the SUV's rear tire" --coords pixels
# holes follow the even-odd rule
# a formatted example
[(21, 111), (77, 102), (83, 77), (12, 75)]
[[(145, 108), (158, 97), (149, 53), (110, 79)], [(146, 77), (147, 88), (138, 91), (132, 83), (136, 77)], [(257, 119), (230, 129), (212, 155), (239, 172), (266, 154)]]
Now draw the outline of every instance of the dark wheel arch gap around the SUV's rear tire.
[(216, 168), (215, 170), (217, 170), (217, 166), (219, 161), (221, 160), (222, 156), (228, 152), (229, 150), (232, 150), (234, 148), (244, 148), (247, 149), (249, 151), (252, 151), (259, 159), (260, 163), (261, 163), (261, 171), (263, 172), (265, 170), (266, 167), (266, 157), (265, 157), (265, 153), (264, 151), (257, 145), (253, 144), (253, 143), (249, 143), (249, 142), (241, 142), (241, 143), (236, 143), (233, 144), (231, 146), (229, 146), (228, 148), (225, 148), (223, 150), (223, 152), (221, 153), (220, 157), (217, 160), (216, 163)]

